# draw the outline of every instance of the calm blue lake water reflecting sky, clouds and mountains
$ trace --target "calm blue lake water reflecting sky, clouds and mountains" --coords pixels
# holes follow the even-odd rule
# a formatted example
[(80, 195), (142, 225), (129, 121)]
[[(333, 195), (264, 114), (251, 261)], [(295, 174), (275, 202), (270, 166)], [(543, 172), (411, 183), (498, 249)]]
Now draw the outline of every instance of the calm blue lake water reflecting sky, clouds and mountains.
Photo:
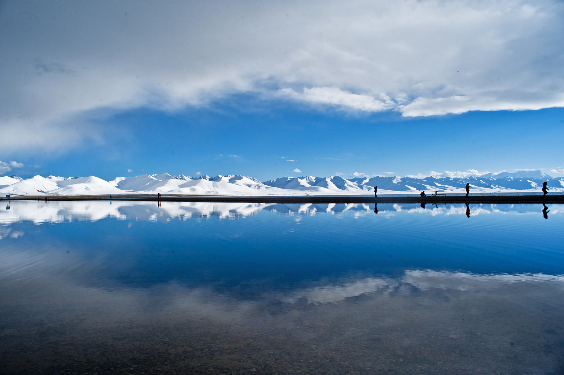
[(562, 374), (562, 205), (12, 202), (0, 372)]

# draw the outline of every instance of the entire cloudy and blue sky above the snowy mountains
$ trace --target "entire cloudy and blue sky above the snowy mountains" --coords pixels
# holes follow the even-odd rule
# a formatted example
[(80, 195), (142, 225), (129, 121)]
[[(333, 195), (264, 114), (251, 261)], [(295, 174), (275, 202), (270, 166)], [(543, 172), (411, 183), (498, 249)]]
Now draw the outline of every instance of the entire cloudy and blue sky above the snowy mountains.
[(0, 173), (564, 175), (562, 3), (320, 6), (3, 2)]

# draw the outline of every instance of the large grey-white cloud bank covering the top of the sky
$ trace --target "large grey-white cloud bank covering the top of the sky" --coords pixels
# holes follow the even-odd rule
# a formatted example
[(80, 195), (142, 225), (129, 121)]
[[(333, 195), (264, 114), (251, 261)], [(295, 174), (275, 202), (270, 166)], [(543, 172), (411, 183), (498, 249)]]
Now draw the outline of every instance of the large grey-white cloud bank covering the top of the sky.
[(564, 106), (556, 0), (59, 4), (2, 5), (5, 151), (102, 142), (92, 118), (239, 92), (404, 116)]

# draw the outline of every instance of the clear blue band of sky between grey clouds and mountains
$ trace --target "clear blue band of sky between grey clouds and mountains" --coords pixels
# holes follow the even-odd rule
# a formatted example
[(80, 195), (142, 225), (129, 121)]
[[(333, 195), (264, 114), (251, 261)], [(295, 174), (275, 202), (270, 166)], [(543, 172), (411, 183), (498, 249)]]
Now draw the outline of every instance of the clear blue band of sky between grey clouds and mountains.
[[(126, 111), (104, 120), (108, 135), (103, 145), (91, 141), (57, 157), (15, 158), (41, 164), (34, 170), (45, 175), (95, 175), (106, 180), (165, 171), (192, 177), (197, 172), (242, 174), (261, 181), (468, 169), (543, 169), (550, 175), (549, 169), (562, 164), (564, 109), (407, 119), (391, 112), (351, 115), (280, 103), (253, 109), (241, 111), (219, 103), (175, 114)], [(112, 132), (113, 126), (120, 130)], [(302, 172), (290, 172), (295, 168)]]

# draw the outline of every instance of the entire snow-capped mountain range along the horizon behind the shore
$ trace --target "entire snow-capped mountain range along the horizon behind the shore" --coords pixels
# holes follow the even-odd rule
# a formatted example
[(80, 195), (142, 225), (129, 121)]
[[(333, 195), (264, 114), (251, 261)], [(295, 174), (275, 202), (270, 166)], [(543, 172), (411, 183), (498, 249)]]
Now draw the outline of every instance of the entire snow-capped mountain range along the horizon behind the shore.
[(548, 182), (552, 192), (564, 191), (564, 177), (552, 178), (541, 171), (488, 173), (466, 178), (411, 177), (355, 177), (340, 176), (280, 177), (260, 182), (254, 177), (240, 175), (172, 176), (168, 173), (116, 177), (111, 181), (95, 176), (56, 177), (34, 176), (22, 180), (14, 175), (0, 176), (0, 194), (11, 195), (102, 195), (102, 194), (191, 194), (191, 195), (371, 195), (378, 186), (378, 194), (415, 194), (422, 190), (444, 193), (465, 193), (470, 184), (472, 193), (526, 193), (540, 191)]

